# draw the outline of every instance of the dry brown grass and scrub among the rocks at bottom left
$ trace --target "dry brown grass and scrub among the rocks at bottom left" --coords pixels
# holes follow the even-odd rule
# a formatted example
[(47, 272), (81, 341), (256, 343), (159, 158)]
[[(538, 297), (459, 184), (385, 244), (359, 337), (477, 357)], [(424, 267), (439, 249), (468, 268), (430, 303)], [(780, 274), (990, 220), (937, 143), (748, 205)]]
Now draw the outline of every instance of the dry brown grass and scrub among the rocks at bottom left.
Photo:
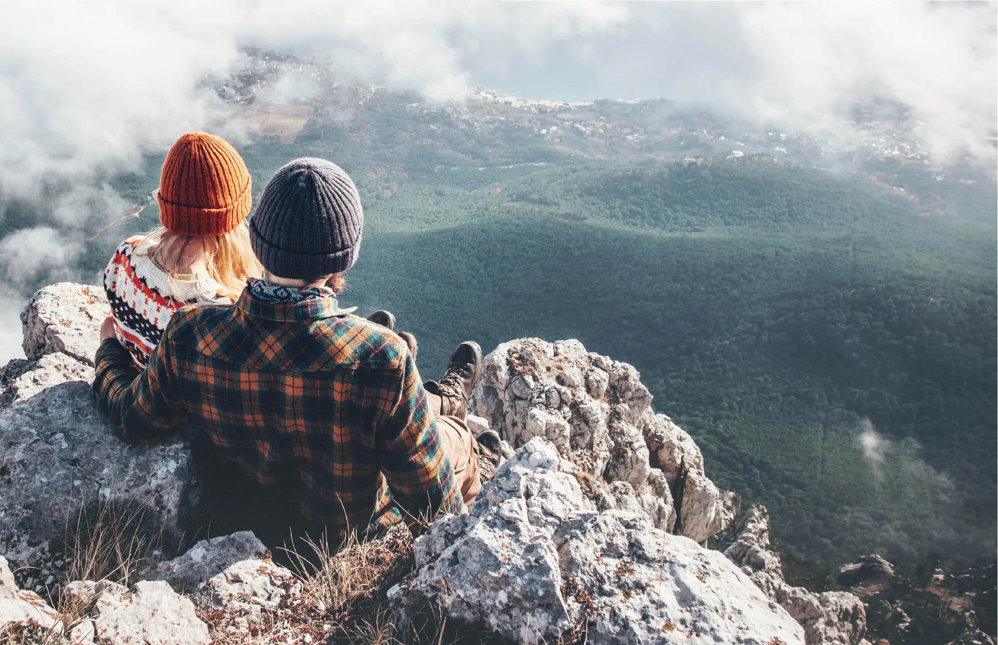
[[(67, 521), (65, 570), (47, 590), (66, 629), (18, 626), (0, 633), (0, 645), (66, 645), (68, 630), (90, 616), (90, 600), (63, 593), (73, 580), (135, 582), (136, 571), (163, 549), (162, 530), (148, 511), (111, 502), (81, 507)], [(300, 579), (276, 609), (200, 605), (212, 645), (492, 645), (502, 641), (480, 629), (455, 624), (438, 608), (401, 624), (387, 591), (414, 568), (412, 534), (399, 524), (383, 536), (361, 542), (351, 537), (338, 549), (325, 537), (293, 541), (277, 553)], [(288, 582), (288, 585), (292, 584)], [(196, 603), (197, 604), (197, 603)]]

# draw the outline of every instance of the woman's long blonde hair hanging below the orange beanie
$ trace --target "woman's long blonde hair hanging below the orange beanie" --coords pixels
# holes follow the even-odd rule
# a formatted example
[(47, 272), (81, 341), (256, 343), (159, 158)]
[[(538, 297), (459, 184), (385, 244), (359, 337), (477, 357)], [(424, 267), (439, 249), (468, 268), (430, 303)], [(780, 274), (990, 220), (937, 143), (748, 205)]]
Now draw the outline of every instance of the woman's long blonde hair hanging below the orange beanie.
[[(233, 294), (240, 294), (248, 278), (259, 278), (263, 268), (256, 260), (250, 245), (250, 226), (244, 220), (238, 227), (220, 235), (185, 236), (157, 227), (139, 243), (135, 253), (149, 256), (160, 268), (166, 267), (168, 254), (179, 258), (188, 245), (198, 242), (205, 251), (208, 273), (215, 282)], [(170, 272), (167, 272), (168, 276)]]

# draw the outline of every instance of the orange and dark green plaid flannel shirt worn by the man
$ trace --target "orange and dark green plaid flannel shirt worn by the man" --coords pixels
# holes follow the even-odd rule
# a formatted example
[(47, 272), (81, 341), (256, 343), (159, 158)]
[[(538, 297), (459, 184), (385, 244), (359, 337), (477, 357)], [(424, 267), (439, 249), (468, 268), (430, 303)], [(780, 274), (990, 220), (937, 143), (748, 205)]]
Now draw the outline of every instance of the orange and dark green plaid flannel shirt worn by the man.
[(111, 338), (101, 410), (126, 441), (198, 420), (220, 457), (288, 491), (302, 519), (363, 532), (464, 508), (405, 341), (335, 298), (180, 310), (141, 373)]

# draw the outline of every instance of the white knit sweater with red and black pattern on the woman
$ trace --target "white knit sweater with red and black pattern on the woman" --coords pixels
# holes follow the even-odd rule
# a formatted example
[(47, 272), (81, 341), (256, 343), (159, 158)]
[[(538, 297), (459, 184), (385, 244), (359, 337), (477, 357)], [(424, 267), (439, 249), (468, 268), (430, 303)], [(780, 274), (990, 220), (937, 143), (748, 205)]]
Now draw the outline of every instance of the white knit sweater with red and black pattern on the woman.
[(140, 369), (145, 369), (179, 309), (194, 303), (232, 304), (239, 298), (207, 275), (198, 280), (168, 276), (144, 251), (135, 253), (144, 239), (136, 236), (123, 242), (104, 270), (115, 333)]

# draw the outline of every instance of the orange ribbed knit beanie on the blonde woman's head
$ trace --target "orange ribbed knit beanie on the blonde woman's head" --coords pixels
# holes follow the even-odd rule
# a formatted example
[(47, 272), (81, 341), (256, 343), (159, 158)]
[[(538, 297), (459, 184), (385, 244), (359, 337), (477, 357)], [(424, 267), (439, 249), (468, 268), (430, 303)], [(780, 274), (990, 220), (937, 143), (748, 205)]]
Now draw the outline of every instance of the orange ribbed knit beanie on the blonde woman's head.
[(250, 215), (250, 171), (225, 139), (190, 132), (163, 163), (159, 199), (160, 222), (174, 233), (228, 233)]

